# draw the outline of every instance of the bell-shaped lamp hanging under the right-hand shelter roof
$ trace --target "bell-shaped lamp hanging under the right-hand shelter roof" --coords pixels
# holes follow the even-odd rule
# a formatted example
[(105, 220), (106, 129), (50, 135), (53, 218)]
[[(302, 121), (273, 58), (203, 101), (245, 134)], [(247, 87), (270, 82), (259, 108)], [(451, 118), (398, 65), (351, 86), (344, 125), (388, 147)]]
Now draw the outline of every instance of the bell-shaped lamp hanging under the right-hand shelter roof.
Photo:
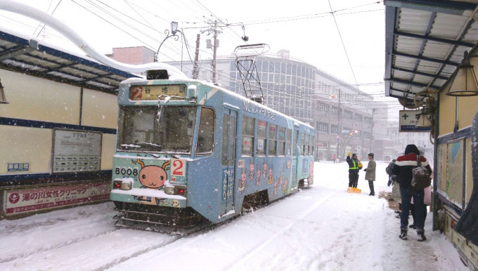
[(477, 74), (474, 66), (470, 64), (468, 52), (465, 51), (464, 58), (457, 67), (455, 76), (448, 85), (448, 96), (465, 97), (478, 95)]

